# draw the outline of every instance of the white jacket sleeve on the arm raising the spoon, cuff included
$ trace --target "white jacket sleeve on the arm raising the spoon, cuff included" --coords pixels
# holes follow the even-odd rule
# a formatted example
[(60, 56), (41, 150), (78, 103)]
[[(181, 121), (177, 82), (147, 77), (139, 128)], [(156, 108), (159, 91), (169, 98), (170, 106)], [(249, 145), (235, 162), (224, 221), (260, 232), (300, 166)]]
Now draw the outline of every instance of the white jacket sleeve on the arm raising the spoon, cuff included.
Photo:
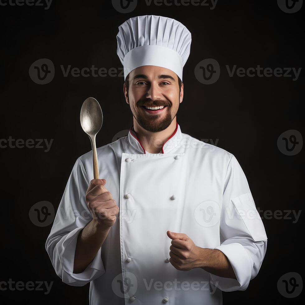
[(82, 273), (73, 273), (78, 234), (92, 219), (85, 200), (88, 185), (87, 172), (82, 161), (78, 158), (45, 244), (56, 274), (64, 283), (72, 286), (83, 286), (105, 273), (101, 259), (101, 248)]

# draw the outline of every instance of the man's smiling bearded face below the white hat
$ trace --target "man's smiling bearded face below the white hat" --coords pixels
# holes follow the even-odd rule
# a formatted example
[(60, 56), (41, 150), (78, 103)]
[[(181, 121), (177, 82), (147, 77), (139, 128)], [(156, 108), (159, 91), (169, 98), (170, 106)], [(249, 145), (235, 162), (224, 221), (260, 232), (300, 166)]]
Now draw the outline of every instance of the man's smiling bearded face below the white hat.
[[(151, 132), (166, 129), (175, 118), (183, 99), (183, 84), (179, 92), (178, 76), (173, 71), (142, 66), (129, 73), (129, 90), (124, 84), (126, 102), (138, 124)], [(164, 106), (149, 110), (147, 107)]]

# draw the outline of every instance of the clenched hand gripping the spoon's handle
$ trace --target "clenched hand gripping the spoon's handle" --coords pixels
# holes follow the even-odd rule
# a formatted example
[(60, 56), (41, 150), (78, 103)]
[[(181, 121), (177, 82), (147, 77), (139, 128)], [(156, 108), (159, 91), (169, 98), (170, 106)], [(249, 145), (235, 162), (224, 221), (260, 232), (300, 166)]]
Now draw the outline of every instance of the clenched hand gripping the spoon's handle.
[(92, 218), (102, 230), (112, 227), (119, 213), (119, 207), (104, 186), (105, 184), (106, 179), (93, 179), (86, 192), (86, 202)]

